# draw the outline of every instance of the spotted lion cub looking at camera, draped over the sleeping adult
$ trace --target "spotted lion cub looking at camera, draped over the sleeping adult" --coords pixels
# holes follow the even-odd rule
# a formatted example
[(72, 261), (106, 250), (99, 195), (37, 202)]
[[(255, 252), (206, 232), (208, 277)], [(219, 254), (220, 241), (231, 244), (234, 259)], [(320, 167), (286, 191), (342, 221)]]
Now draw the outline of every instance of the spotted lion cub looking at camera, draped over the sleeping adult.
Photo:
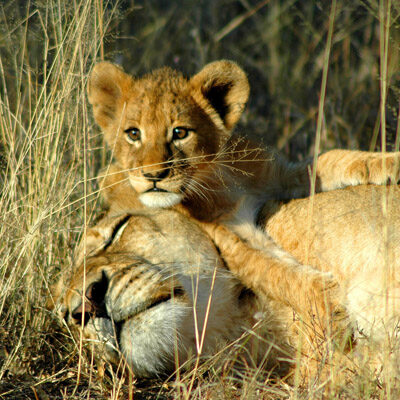
[[(257, 293), (316, 316), (322, 326), (331, 313), (341, 317), (330, 275), (299, 264), (266, 233), (262, 246), (251, 247), (240, 238), (242, 222), (232, 222), (245, 197), (256, 215), (268, 199), (304, 196), (310, 187), (309, 162), (288, 163), (232, 133), (249, 96), (237, 64), (213, 62), (187, 79), (170, 68), (136, 78), (102, 62), (88, 92), (116, 159), (102, 182), (111, 212), (175, 207), (203, 224), (231, 271)], [(398, 159), (398, 153), (382, 159), (379, 153), (330, 151), (318, 159), (316, 190), (397, 181)], [(250, 225), (256, 230), (254, 220)]]

